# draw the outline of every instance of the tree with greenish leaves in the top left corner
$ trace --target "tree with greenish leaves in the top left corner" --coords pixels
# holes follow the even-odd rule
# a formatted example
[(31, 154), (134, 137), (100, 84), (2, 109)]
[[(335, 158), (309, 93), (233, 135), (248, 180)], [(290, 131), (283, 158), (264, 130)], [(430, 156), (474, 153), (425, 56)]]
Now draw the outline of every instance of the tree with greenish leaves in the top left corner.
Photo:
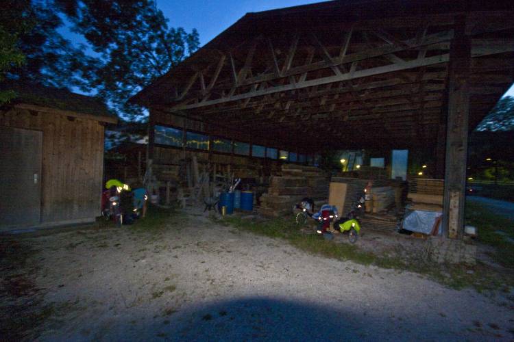
[(8, 35), (0, 35), (2, 47), (7, 41), (16, 56), (5, 73), (8, 79), (56, 88), (82, 85), (79, 70), (89, 57), (84, 46), (75, 47), (58, 31), (64, 23), (52, 1), (10, 0), (0, 18), (0, 30), (8, 27), (3, 29)]

